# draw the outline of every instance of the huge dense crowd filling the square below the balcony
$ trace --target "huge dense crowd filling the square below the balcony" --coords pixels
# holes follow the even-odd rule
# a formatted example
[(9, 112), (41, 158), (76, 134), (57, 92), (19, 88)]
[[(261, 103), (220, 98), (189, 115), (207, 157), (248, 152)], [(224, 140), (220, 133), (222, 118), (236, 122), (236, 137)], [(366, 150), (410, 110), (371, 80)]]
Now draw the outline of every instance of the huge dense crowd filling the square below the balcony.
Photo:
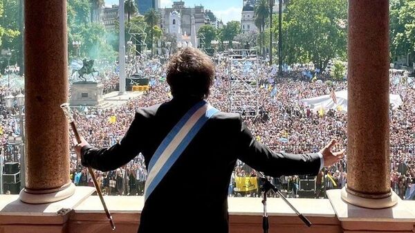
[[(151, 88), (140, 97), (111, 109), (75, 109), (75, 121), (80, 134), (96, 147), (109, 147), (117, 143), (127, 131), (138, 107), (151, 106), (172, 98), (165, 82), (165, 66), (160, 59), (136, 59), (130, 64), (127, 73), (138, 73), (149, 77)], [(221, 61), (216, 65), (216, 77), (208, 101), (221, 111), (229, 111), (230, 88), (229, 64)], [(252, 135), (275, 151), (289, 153), (316, 152), (331, 138), (338, 140), (337, 148), (347, 147), (347, 113), (336, 110), (311, 111), (299, 100), (329, 95), (331, 89), (347, 89), (347, 81), (316, 82), (321, 73), (315, 73), (312, 66), (295, 66), (284, 72), (282, 77), (270, 77), (273, 67), (257, 64), (259, 87), (259, 114), (244, 117)], [(306, 71), (306, 72), (304, 72)], [(118, 88), (117, 69), (102, 71), (102, 82), (106, 92)], [(311, 74), (311, 77), (309, 75)], [(327, 76), (327, 75), (326, 75)], [(324, 76), (324, 79), (326, 78)], [(415, 83), (404, 80), (400, 73), (391, 73), (390, 91), (399, 94), (403, 104), (390, 110), (391, 142), (391, 187), (401, 197), (414, 198), (415, 183)], [(396, 81), (398, 80), (398, 81)], [(403, 82), (405, 81), (405, 82)], [(4, 106), (7, 88), (0, 89), (1, 144), (5, 148), (6, 160), (19, 158), (19, 148), (8, 145), (7, 137), (16, 133), (16, 121)], [(14, 90), (18, 92), (20, 90)], [(15, 109), (16, 111), (16, 109)], [(116, 171), (95, 171), (98, 183), (107, 195), (142, 195), (147, 171), (142, 155), (138, 155), (127, 165)], [(230, 180), (230, 196), (258, 196), (259, 191), (238, 192), (237, 177), (256, 176), (254, 170), (238, 161)], [(71, 178), (75, 185), (93, 186), (84, 167), (78, 163), (75, 153), (71, 153)], [(283, 176), (270, 180), (291, 197), (302, 197), (299, 180), (310, 177)], [(333, 167), (323, 169), (315, 178), (315, 197), (324, 197), (324, 190), (342, 188), (347, 183), (347, 155)], [(202, 181), (201, 181), (202, 182)], [(270, 194), (272, 195), (272, 194)]]

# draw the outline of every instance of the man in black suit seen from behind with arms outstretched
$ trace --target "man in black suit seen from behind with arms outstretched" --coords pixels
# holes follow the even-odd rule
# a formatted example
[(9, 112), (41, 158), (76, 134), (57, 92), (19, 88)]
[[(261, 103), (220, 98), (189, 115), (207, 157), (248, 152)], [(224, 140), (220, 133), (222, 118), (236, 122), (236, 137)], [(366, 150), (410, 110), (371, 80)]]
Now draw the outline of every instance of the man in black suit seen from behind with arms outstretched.
[[(213, 78), (207, 55), (194, 48), (179, 51), (167, 68), (173, 99), (138, 109), (124, 138), (112, 147), (96, 149), (82, 140), (75, 146), (82, 165), (109, 171), (141, 152), (149, 167), (167, 133), (192, 106), (207, 99)], [(241, 115), (216, 113), (147, 198), (138, 232), (228, 232), (228, 186), (237, 159), (268, 176), (316, 175), (323, 165), (340, 160), (342, 152), (331, 153), (334, 144), (332, 140), (320, 153), (271, 151), (255, 140)]]

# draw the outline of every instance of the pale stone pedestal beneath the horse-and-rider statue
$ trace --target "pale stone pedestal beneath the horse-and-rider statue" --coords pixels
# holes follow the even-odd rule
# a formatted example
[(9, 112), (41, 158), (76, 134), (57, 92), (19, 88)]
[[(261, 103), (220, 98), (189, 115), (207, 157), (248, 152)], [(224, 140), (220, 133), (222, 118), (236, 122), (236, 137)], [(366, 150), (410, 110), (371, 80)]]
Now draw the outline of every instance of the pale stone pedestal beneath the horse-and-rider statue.
[(102, 103), (104, 85), (100, 82), (74, 82), (71, 86), (72, 106), (96, 106)]

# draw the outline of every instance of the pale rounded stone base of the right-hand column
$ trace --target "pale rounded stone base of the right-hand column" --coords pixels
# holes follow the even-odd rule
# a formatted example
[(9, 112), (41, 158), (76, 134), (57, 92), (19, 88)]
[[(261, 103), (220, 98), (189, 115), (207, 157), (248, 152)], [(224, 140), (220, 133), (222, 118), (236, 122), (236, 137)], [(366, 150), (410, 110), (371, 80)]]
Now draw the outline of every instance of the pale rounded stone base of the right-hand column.
[(391, 196), (386, 198), (362, 198), (347, 192), (346, 187), (342, 188), (342, 200), (356, 205), (359, 207), (365, 207), (369, 209), (383, 209), (396, 205), (398, 203), (399, 197), (391, 189)]

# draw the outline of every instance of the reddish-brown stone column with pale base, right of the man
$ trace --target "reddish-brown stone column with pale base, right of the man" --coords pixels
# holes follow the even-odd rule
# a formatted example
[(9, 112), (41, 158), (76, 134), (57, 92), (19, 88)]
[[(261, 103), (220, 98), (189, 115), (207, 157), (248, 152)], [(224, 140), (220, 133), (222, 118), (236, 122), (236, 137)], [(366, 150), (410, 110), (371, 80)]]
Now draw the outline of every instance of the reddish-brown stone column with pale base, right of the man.
[(389, 180), (389, 1), (349, 0), (347, 187), (361, 207), (396, 204)]

